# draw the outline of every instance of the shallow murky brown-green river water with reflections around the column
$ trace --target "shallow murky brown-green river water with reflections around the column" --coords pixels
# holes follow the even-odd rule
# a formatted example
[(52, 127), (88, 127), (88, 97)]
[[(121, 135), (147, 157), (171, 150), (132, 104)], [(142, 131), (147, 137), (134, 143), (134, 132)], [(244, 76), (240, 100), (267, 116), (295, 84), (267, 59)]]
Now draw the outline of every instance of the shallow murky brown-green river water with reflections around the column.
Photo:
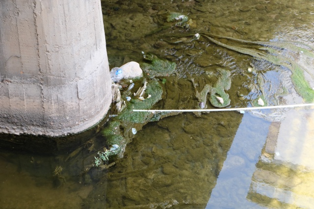
[[(102, 6), (110, 68), (143, 62), (142, 52), (176, 63), (174, 75), (156, 78), (164, 93), (154, 108), (199, 108), (197, 92), (215, 85), (217, 69), (230, 72), (225, 108), (257, 106), (259, 98), (269, 106), (314, 99), (314, 0)], [(167, 22), (171, 12), (188, 21)], [(305, 81), (293, 80), (297, 69)], [(209, 95), (206, 105), (215, 108)], [(166, 117), (143, 126), (116, 164), (85, 172), (105, 145), (101, 129), (63, 155), (2, 150), (0, 208), (314, 208), (312, 107)]]

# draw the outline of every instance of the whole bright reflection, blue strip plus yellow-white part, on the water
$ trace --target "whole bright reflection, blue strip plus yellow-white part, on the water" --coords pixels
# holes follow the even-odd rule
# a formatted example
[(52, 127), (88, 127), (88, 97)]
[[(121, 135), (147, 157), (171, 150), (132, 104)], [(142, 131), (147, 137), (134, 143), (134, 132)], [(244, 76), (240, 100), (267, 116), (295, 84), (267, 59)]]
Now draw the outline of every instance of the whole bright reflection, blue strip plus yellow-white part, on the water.
[[(314, 112), (290, 110), (284, 121), (270, 125), (249, 117), (242, 119), (207, 208), (311, 208)], [(260, 129), (244, 133), (246, 121)]]

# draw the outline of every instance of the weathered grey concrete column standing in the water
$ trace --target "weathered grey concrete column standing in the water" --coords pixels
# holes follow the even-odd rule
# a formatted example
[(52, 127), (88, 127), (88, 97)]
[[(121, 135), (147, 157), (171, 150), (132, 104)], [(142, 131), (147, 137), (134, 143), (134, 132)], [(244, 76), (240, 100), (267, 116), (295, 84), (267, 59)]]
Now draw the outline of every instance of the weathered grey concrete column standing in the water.
[(0, 132), (84, 131), (110, 104), (100, 0), (0, 0)]

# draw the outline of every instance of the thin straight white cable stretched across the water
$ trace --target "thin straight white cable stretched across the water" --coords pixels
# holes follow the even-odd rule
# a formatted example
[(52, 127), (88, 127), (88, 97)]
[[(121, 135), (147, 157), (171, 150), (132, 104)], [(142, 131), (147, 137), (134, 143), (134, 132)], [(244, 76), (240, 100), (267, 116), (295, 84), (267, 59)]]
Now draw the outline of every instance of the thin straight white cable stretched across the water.
[(219, 111), (240, 111), (240, 110), (256, 110), (256, 109), (276, 109), (276, 108), (293, 108), (314, 106), (311, 104), (289, 104), (278, 106), (258, 106), (258, 107), (239, 107), (239, 108), (223, 108), (223, 109), (133, 109), (133, 112), (219, 112)]

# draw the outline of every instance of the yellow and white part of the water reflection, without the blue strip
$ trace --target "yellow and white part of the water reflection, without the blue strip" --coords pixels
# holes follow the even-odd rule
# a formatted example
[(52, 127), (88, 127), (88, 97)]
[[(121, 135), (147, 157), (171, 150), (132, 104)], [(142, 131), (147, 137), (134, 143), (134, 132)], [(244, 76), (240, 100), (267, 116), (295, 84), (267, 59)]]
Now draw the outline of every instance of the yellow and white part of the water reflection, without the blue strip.
[(312, 208), (314, 113), (288, 112), (270, 126), (247, 198), (269, 207)]

